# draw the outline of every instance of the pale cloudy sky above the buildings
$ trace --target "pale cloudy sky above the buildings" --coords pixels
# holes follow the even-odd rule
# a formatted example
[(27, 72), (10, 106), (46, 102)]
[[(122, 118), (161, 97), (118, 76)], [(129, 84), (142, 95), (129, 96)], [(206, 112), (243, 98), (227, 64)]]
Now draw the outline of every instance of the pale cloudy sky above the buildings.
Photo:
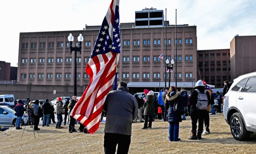
[[(17, 66), (19, 33), (81, 30), (101, 25), (111, 0), (4, 0), (0, 6), (0, 61)], [(255, 0), (120, 0), (120, 23), (134, 22), (135, 11), (165, 10), (177, 25), (197, 26), (197, 48), (224, 49), (236, 34), (256, 35)], [(165, 13), (164, 13), (165, 15)]]

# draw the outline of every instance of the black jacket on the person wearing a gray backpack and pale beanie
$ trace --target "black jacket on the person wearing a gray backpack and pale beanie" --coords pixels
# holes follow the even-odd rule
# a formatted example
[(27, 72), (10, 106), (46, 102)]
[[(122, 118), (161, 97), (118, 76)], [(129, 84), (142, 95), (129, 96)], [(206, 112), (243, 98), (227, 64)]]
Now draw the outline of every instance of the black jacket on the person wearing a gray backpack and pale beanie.
[[(190, 98), (189, 98), (189, 103), (191, 105), (190, 107), (190, 113), (193, 113), (193, 112), (198, 112), (198, 109), (197, 109), (197, 96), (198, 96), (198, 92), (195, 90), (195, 89), (198, 89), (200, 92), (204, 92), (205, 88), (203, 86), (197, 86), (193, 89), (191, 95), (190, 95)], [(210, 100), (210, 94), (208, 91), (206, 91), (206, 95), (207, 95), (207, 98), (208, 98), (208, 105), (211, 104), (211, 100)]]

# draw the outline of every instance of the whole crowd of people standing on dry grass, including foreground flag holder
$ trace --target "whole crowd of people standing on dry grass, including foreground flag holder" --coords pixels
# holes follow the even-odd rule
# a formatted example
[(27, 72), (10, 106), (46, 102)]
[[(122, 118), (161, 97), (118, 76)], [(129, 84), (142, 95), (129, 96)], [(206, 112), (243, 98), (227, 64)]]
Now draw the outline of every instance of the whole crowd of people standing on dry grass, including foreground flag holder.
[[(224, 94), (228, 91), (229, 85), (225, 81)], [(181, 88), (180, 91), (176, 87), (171, 86), (161, 89), (159, 95), (155, 95), (152, 90), (144, 90), (144, 98), (139, 98), (137, 94), (131, 95), (127, 88), (126, 82), (119, 82), (117, 90), (110, 91), (107, 94), (102, 117), (106, 116), (106, 123), (104, 128), (104, 152), (115, 153), (116, 146), (117, 153), (128, 153), (131, 142), (132, 123), (144, 123), (141, 129), (151, 129), (152, 122), (159, 118), (163, 122), (169, 123), (169, 141), (180, 141), (179, 138), (179, 125), (182, 120), (186, 120), (186, 116), (191, 118), (191, 133), (188, 136), (189, 140), (200, 140), (202, 135), (210, 134), (209, 129), (209, 113), (210, 115), (216, 114), (213, 109), (214, 96), (212, 89), (207, 86), (205, 81), (199, 80), (196, 86), (192, 89), (191, 95)], [(217, 94), (218, 111), (221, 113), (222, 95), (220, 92)], [(68, 118), (69, 133), (76, 132), (76, 120), (69, 116), (76, 104), (76, 96), (72, 100), (66, 101), (63, 104), (61, 98), (56, 102), (57, 114), (57, 129), (63, 128), (61, 126), (65, 115), (64, 125), (66, 125)], [(20, 120), (25, 111), (22, 101), (18, 102), (15, 107), (17, 114), (16, 129), (20, 128)], [(39, 106), (39, 101), (30, 102), (27, 105), (26, 112), (29, 115), (29, 122), (34, 125), (34, 130), (38, 128), (39, 119), (42, 118), (42, 126), (49, 126), (51, 119), (54, 121), (54, 108), (45, 100), (42, 106)], [(210, 112), (211, 111), (211, 112)], [(101, 118), (102, 120), (102, 118)], [(203, 130), (203, 124), (205, 129)], [(82, 129), (81, 129), (82, 128)], [(80, 131), (83, 131), (84, 126), (80, 124)], [(86, 128), (85, 128), (86, 129)]]

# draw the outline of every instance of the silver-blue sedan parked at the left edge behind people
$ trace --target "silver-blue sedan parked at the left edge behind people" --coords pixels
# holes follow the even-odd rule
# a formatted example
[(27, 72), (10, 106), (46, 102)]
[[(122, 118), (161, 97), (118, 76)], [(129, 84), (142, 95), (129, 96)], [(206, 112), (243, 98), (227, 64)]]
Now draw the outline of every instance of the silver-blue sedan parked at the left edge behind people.
[[(0, 106), (0, 125), (14, 125), (16, 126), (17, 116), (14, 115), (15, 111), (9, 106)], [(24, 112), (21, 124), (28, 123), (28, 114)]]

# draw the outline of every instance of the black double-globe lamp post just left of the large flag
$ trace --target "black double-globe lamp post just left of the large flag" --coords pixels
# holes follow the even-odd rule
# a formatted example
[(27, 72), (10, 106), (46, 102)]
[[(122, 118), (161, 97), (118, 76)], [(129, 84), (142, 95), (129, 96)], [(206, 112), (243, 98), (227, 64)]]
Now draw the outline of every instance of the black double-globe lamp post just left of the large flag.
[(74, 68), (74, 96), (76, 96), (76, 51), (79, 51), (79, 54), (81, 54), (81, 48), (82, 48), (82, 42), (84, 40), (82, 34), (79, 34), (79, 36), (77, 37), (77, 40), (79, 42), (79, 47), (76, 47), (76, 44), (75, 44), (75, 47), (72, 47), (72, 43), (74, 41), (74, 37), (72, 36), (72, 34), (70, 33), (69, 36), (68, 36), (68, 40), (69, 40), (69, 48), (70, 48), (70, 54), (72, 54), (72, 51), (74, 51), (74, 55), (75, 55), (75, 60), (74, 60), (74, 63), (75, 63), (75, 68)]

